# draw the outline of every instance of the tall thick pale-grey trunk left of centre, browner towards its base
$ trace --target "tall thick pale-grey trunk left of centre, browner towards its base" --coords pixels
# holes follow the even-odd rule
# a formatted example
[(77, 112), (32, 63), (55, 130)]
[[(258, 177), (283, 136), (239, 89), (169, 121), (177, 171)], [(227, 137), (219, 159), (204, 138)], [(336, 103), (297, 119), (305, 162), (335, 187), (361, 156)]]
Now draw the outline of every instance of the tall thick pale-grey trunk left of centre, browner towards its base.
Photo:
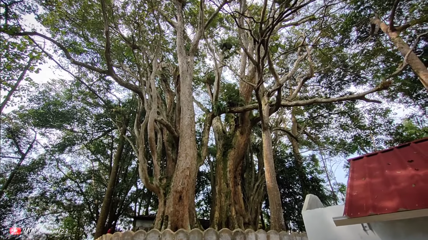
[[(178, 143), (178, 156), (175, 172), (172, 176), (171, 188), (166, 199), (165, 216), (163, 225), (172, 231), (180, 228), (190, 230), (190, 211), (194, 211), (191, 202), (195, 201), (194, 191), (196, 186), (197, 147), (195, 129), (195, 111), (193, 108), (192, 79), (193, 56), (189, 56), (184, 42), (183, 5), (176, 1), (177, 8), (177, 56), (180, 68), (180, 128)], [(193, 198), (192, 198), (193, 197)], [(194, 215), (193, 215), (194, 216)]]

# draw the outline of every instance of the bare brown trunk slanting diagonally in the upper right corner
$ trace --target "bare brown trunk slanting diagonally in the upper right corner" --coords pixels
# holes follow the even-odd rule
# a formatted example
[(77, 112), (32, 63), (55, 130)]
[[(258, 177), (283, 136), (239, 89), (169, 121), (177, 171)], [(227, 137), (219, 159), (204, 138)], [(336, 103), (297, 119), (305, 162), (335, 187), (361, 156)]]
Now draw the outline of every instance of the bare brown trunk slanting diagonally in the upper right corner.
[(425, 64), (421, 61), (421, 59), (416, 56), (415, 53), (413, 53), (413, 50), (410, 49), (409, 45), (407, 45), (406, 42), (403, 41), (403, 39), (399, 36), (399, 31), (393, 29), (389, 29), (389, 26), (386, 25), (384, 22), (382, 22), (380, 19), (372, 18), (371, 20), (372, 24), (377, 24), (380, 29), (388, 35), (389, 39), (391, 39), (392, 43), (394, 43), (395, 47), (398, 48), (398, 51), (400, 51), (401, 55), (403, 57), (406, 57), (407, 55), (407, 63), (410, 65), (410, 67), (413, 69), (413, 71), (416, 73), (416, 75), (419, 77), (419, 80), (422, 82), (422, 85), (428, 90), (428, 70), (427, 67), (425, 67)]

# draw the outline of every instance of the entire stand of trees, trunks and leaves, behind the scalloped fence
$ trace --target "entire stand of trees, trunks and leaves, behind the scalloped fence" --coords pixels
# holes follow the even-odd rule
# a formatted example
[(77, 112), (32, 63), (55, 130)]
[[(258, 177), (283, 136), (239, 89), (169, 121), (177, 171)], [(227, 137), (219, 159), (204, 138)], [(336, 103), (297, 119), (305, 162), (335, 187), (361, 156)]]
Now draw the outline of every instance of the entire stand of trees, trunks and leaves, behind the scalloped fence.
[[(2, 238), (39, 222), (68, 235), (33, 239), (96, 239), (151, 214), (305, 231), (307, 194), (343, 203), (347, 158), (428, 136), (427, 8), (1, 0)], [(48, 60), (68, 76), (38, 81)]]

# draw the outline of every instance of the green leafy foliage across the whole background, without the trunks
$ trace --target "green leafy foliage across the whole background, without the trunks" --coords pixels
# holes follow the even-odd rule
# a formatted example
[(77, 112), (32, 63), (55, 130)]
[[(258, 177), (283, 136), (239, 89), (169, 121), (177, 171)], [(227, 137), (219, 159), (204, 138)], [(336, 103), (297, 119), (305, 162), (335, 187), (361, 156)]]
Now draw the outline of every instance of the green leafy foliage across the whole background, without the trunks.
[[(369, 18), (374, 14), (374, 10), (382, 18), (387, 18), (393, 2), (392, 0), (386, 2), (352, 0), (349, 5), (348, 3), (346, 5), (338, 3), (337, 6), (331, 6), (331, 9), (335, 11), (328, 17), (321, 16), (321, 12), (324, 11), (317, 10), (318, 12), (310, 16), (308, 21), (291, 24), (294, 26), (290, 25), (274, 32), (268, 41), (268, 48), (274, 68), (280, 77), (285, 76), (294, 67), (298, 57), (307, 53), (308, 49), (305, 46), (301, 47), (300, 53), (297, 54), (297, 49), (303, 43), (302, 35), (305, 35), (306, 43), (312, 43), (319, 38), (318, 42), (311, 46), (313, 47), (312, 64), (316, 72), (312, 78), (307, 79), (308, 81), (294, 100), (328, 99), (366, 91), (377, 86), (386, 76), (394, 72), (403, 60), (403, 56), (394, 50), (394, 46), (381, 32), (369, 38)], [(425, 19), (426, 3), (421, 1), (400, 2), (395, 19), (396, 25), (408, 21), (416, 23), (419, 19)], [(16, 171), (10, 187), (1, 199), (2, 237), (7, 235), (6, 230), (12, 223), (24, 224), (31, 220), (55, 223), (57, 226), (69, 229), (70, 235), (67, 239), (91, 238), (112, 171), (113, 157), (119, 144), (117, 128), (124, 124), (125, 119), (129, 120), (126, 125), (128, 139), (124, 143), (124, 151), (120, 156), (118, 177), (111, 199), (107, 225), (121, 225), (128, 228), (128, 221), (134, 215), (156, 213), (159, 204), (158, 198), (138, 180), (140, 162), (136, 161), (135, 149), (131, 144), (135, 145), (134, 127), (138, 128), (138, 124), (134, 125), (134, 122), (138, 109), (143, 109), (140, 117), (140, 122), (143, 122), (146, 109), (149, 110), (152, 106), (150, 101), (153, 96), (151, 96), (150, 88), (156, 88), (159, 96), (156, 114), (168, 118), (167, 121), (173, 128), (178, 125), (178, 116), (174, 115), (174, 112), (178, 112), (176, 107), (179, 95), (173, 97), (172, 106), (168, 106), (169, 109), (166, 109), (169, 104), (167, 102), (169, 89), (173, 93), (172, 95), (176, 92), (180, 94), (178, 91), (180, 82), (175, 82), (173, 70), (170, 69), (179, 64), (176, 53), (177, 32), (166, 21), (166, 18), (172, 21), (177, 20), (174, 1), (156, 1), (154, 3), (107, 1), (112, 64), (116, 76), (125, 82), (125, 84), (119, 82), (120, 85), (111, 76), (106, 76), (104, 74), (106, 72), (98, 71), (97, 73), (85, 69), (85, 67), (74, 68), (64, 64), (64, 61), (59, 60), (59, 56), (64, 56), (64, 53), (56, 46), (53, 46), (54, 58), (58, 58), (56, 60), (73, 72), (76, 78), (71, 81), (50, 80), (47, 84), (37, 85), (29, 74), (39, 73), (39, 66), (44, 63), (42, 51), (29, 37), (7, 36), (24, 30), (30, 31), (21, 22), (23, 22), (24, 14), (34, 13), (37, 21), (45, 27), (46, 35), (62, 44), (73, 59), (105, 70), (107, 69), (106, 38), (100, 2), (36, 0), (16, 1), (10, 6), (9, 3), (12, 2), (2, 0), (1, 8), (9, 7), (10, 11), (0, 13), (2, 17), (2, 35), (0, 36), (2, 96), (3, 93), (12, 91), (28, 60), (34, 60), (28, 67), (28, 73), (24, 74), (23, 82), (14, 92), (12, 100), (7, 103), (7, 106), (18, 106), (16, 100), (20, 99), (21, 105), (16, 111), (1, 116), (0, 183), (2, 186), (18, 166), (18, 159), (23, 156), (20, 149), (29, 149), (30, 153), (30, 155), (24, 156), (23, 163)], [(37, 11), (36, 4), (40, 7), (40, 11)], [(200, 2), (191, 0), (184, 6), (184, 47), (187, 53), (192, 44), (191, 38), (198, 35), (199, 4)], [(288, 23), (299, 20), (306, 13), (318, 9), (318, 4), (320, 3), (315, 1), (307, 8), (294, 12), (293, 15), (287, 17), (290, 20)], [(227, 163), (230, 161), (227, 159), (227, 153), (236, 144), (234, 142), (235, 134), (244, 135), (246, 131), (250, 132), (250, 146), (262, 142), (261, 128), (256, 121), (258, 118), (253, 117), (257, 111), (250, 113), (252, 122), (248, 124), (247, 129), (239, 129), (241, 132), (231, 131), (232, 125), (235, 126), (236, 123), (238, 126), (242, 123), (245, 117), (242, 115), (245, 114), (230, 114), (227, 111), (230, 108), (244, 106), (248, 102), (245, 102), (241, 95), (241, 91), (247, 85), (240, 82), (235, 73), (230, 70), (234, 69), (239, 72), (241, 60), (238, 52), (243, 50), (234, 19), (237, 17), (237, 12), (229, 14), (226, 11), (229, 9), (234, 11), (236, 3), (229, 3), (227, 6), (230, 8), (221, 10), (219, 15), (212, 19), (209, 26), (206, 27), (205, 33), (215, 52), (224, 54), (226, 65), (228, 65), (223, 66), (218, 101), (211, 105), (211, 111), (219, 116), (222, 129), (214, 135), (211, 132), (208, 148), (210, 162), (204, 162), (199, 169), (196, 181), (197, 215), (205, 219), (211, 215), (211, 205), (215, 197), (214, 189), (211, 187), (213, 184), (211, 181), (216, 176), (214, 169), (217, 161), (224, 161), (226, 164), (223, 164), (225, 168), (222, 171), (227, 170)], [(159, 9), (163, 10), (162, 14)], [(207, 20), (216, 9), (216, 4), (207, 2), (204, 20)], [(260, 16), (261, 12), (262, 6), (259, 3), (248, 6), (248, 16)], [(256, 20), (253, 17), (246, 19), (251, 34), (256, 38), (260, 37), (260, 22), (257, 18), (254, 17)], [(412, 28), (402, 32), (402, 37), (411, 45), (421, 32), (426, 32), (426, 26), (415, 24)], [(259, 40), (250, 38), (250, 41), (253, 41), (252, 44), (257, 44)], [(156, 77), (155, 86), (149, 87), (146, 79), (149, 78), (149, 72), (153, 70), (152, 54), (155, 52), (155, 47), (159, 47), (162, 70)], [(256, 47), (254, 51), (260, 51), (260, 48)], [(420, 56), (423, 62), (426, 62), (428, 61), (426, 51), (424, 37), (415, 47), (414, 52)], [(193, 97), (198, 98), (197, 100), (209, 109), (211, 100), (208, 98), (206, 85), (208, 83), (212, 87), (216, 78), (214, 71), (205, 76), (205, 70), (212, 68), (211, 53), (208, 53), (206, 48), (200, 47), (196, 50), (194, 59), (195, 69), (191, 73), (193, 74), (191, 89)], [(68, 63), (68, 61), (66, 62)], [(247, 59), (247, 63), (250, 62), (250, 59)], [(121, 68), (122, 64), (127, 68)], [(210, 66), (207, 67), (207, 65)], [(262, 63), (262, 65), (267, 65), (267, 63)], [(307, 75), (309, 66), (308, 59), (304, 59), (300, 63), (296, 72), (282, 88), (283, 100), (297, 88), (300, 80)], [(247, 74), (250, 70), (251, 65), (248, 64), (244, 72)], [(261, 72), (264, 74), (265, 88), (270, 91), (275, 84), (271, 73), (267, 67), (262, 67)], [(131, 93), (123, 87), (127, 84), (145, 89), (146, 92), (140, 95), (145, 95), (146, 99), (139, 99), (137, 94)], [(189, 89), (181, 88), (181, 91), (183, 90)], [(274, 96), (269, 97), (274, 99)], [(307, 191), (317, 195), (324, 205), (331, 205), (335, 201), (343, 201), (338, 196), (345, 193), (346, 187), (343, 183), (333, 182), (331, 187), (334, 192), (327, 190), (326, 186), (329, 185), (324, 181), (324, 177), (331, 176), (332, 173), (330, 170), (325, 170), (324, 166), (321, 167), (320, 163), (330, 158), (344, 160), (350, 155), (373, 152), (428, 135), (426, 120), (422, 115), (423, 111), (426, 111), (428, 94), (409, 67), (392, 78), (392, 85), (388, 91), (372, 94), (370, 97), (382, 100), (386, 104), (375, 105), (353, 100), (331, 104), (309, 104), (293, 109), (298, 123), (299, 148), (302, 152), (305, 150), (311, 154), (303, 156), (303, 168), (297, 167), (296, 159), (288, 146), (288, 137), (284, 133), (273, 133), (276, 177), (288, 230), (304, 231), (300, 214), (304, 199), (302, 198), (301, 183), (298, 181), (299, 173), (303, 171), (305, 175)], [(255, 100), (253, 95), (248, 101), (255, 102)], [(146, 101), (150, 102), (147, 106), (144, 105)], [(397, 104), (413, 106), (418, 111), (414, 116), (408, 116), (401, 122), (394, 115), (396, 111), (393, 110), (393, 106)], [(280, 126), (291, 129), (290, 111), (289, 108), (279, 109), (270, 117), (270, 125), (275, 126), (275, 123), (279, 122), (279, 118), (283, 117)], [(187, 113), (181, 112), (181, 114), (183, 116)], [(202, 129), (206, 116), (205, 112), (196, 115), (196, 141), (199, 152), (198, 159), (195, 161), (198, 161), (202, 155)], [(163, 124), (156, 121), (155, 125), (163, 135), (167, 134), (168, 131)], [(187, 129), (178, 128), (176, 130), (179, 134), (187, 131)], [(149, 179), (154, 182), (153, 159), (147, 143), (147, 132), (143, 132), (143, 135), (146, 142), (142, 148), (146, 150), (144, 154), (147, 159)], [(214, 144), (219, 136), (223, 138), (223, 148)], [(159, 135), (156, 133), (156, 140), (158, 138)], [(30, 147), (34, 141), (36, 141), (37, 147)], [(172, 138), (163, 139), (163, 143), (160, 144), (159, 161), (162, 165), (163, 180), (166, 159), (171, 158), (166, 154), (164, 146), (166, 144), (172, 146), (172, 155), (177, 154), (178, 149)], [(223, 149), (223, 152), (219, 154), (222, 156), (221, 159), (216, 159), (217, 149)], [(320, 162), (315, 155), (322, 156), (323, 161)], [(174, 157), (176, 156), (172, 156), (172, 158)], [(262, 157), (257, 157), (257, 159), (253, 156), (250, 157), (248, 151), (245, 152), (244, 158), (245, 161), (251, 158), (252, 162), (242, 169), (242, 173), (260, 173), (262, 175)], [(259, 166), (255, 166), (257, 164), (260, 164), (260, 169)], [(247, 179), (244, 174), (242, 175), (243, 188), (248, 184), (245, 182)], [(217, 176), (225, 177), (226, 175), (218, 173)], [(162, 187), (167, 194), (170, 190), (171, 179), (165, 180)], [(248, 191), (244, 193), (244, 197), (247, 198), (250, 194)], [(230, 196), (227, 197), (230, 198)], [(266, 200), (265, 196), (263, 207), (265, 220), (269, 217), (268, 211), (266, 211), (269, 205)], [(24, 216), (21, 216), (21, 213)], [(61, 237), (53, 235), (43, 235), (38, 238), (61, 239)]]

